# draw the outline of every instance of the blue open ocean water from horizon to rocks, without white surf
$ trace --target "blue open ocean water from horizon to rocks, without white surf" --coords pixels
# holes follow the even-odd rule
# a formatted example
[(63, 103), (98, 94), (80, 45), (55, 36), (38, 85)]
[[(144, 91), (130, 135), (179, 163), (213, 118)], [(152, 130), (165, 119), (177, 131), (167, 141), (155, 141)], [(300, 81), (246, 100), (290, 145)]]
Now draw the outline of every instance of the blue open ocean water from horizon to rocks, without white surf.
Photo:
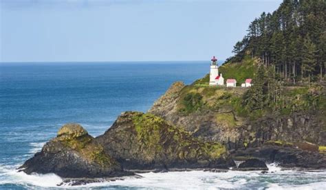
[[(0, 166), (12, 169), (69, 122), (102, 134), (126, 110), (146, 112), (169, 86), (209, 62), (2, 63)], [(0, 183), (3, 183), (0, 171)], [(1, 187), (1, 186), (0, 186)]]

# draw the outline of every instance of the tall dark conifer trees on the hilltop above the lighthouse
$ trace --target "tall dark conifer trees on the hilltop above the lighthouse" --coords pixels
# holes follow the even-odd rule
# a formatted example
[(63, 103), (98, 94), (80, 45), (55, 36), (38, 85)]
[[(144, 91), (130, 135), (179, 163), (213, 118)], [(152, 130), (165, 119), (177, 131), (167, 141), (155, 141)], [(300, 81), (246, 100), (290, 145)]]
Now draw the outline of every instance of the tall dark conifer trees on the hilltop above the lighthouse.
[(236, 43), (239, 62), (256, 57), (283, 81), (323, 80), (326, 62), (326, 0), (284, 0), (272, 14), (261, 14)]

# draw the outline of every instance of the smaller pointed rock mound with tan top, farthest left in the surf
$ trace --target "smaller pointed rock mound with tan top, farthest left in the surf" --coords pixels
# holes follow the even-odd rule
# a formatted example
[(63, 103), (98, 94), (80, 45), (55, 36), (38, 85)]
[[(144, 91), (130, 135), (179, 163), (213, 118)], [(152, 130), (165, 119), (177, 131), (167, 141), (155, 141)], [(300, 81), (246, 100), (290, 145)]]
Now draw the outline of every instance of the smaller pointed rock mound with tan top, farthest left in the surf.
[(104, 178), (131, 175), (103, 151), (78, 124), (66, 124), (21, 167), (26, 174), (54, 173), (63, 178)]

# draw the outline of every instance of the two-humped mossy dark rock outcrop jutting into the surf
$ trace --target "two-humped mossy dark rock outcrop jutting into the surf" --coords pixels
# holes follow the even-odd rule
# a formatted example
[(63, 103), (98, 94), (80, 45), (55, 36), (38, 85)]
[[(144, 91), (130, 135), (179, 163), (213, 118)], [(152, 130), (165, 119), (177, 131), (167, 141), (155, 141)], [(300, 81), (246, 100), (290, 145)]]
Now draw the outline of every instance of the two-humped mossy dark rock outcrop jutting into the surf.
[(63, 126), (56, 138), (19, 170), (78, 178), (74, 182), (77, 185), (94, 182), (91, 178), (134, 175), (128, 170), (228, 169), (233, 165), (226, 147), (220, 143), (200, 141), (149, 113), (124, 112), (96, 139), (78, 124)]

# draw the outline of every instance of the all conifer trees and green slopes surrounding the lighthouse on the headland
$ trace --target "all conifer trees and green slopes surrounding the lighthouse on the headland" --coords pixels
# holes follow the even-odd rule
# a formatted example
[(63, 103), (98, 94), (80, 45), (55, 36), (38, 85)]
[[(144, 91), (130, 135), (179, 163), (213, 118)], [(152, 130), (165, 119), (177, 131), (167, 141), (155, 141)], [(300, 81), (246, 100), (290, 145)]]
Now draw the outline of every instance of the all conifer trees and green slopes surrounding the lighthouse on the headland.
[(182, 89), (177, 102), (180, 113), (232, 112), (235, 117), (220, 115), (216, 120), (237, 126), (239, 117), (256, 120), (270, 114), (326, 110), (325, 8), (323, 0), (284, 0), (272, 14), (261, 14), (235, 45), (235, 56), (219, 67), (225, 79), (235, 78), (240, 86), (252, 78), (253, 86), (208, 86), (209, 74), (205, 75)]

